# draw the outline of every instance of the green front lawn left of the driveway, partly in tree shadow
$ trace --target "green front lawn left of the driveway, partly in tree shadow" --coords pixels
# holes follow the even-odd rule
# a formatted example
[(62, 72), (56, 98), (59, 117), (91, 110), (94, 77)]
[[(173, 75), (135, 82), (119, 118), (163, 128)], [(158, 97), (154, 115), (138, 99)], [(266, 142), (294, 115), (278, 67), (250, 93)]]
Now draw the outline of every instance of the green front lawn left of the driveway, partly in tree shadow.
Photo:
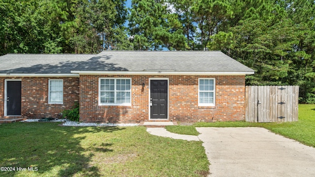
[[(143, 126), (0, 125), (0, 166), (38, 171), (1, 177), (206, 177), (202, 142), (149, 134)], [(15, 169), (16, 170), (16, 169)]]

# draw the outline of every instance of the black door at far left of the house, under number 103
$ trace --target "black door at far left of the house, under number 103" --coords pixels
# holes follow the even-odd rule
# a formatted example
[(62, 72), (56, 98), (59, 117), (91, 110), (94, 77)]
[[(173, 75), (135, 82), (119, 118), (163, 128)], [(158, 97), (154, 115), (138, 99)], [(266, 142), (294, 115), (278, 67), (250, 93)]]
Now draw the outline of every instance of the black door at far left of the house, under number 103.
[(7, 81), (6, 91), (6, 115), (21, 115), (21, 81)]

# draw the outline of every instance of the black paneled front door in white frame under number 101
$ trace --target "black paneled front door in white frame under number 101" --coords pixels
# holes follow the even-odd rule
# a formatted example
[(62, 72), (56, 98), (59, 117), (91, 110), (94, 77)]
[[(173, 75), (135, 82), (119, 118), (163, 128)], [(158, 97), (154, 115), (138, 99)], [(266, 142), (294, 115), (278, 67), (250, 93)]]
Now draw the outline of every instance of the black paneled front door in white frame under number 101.
[(167, 80), (150, 81), (150, 118), (167, 119)]

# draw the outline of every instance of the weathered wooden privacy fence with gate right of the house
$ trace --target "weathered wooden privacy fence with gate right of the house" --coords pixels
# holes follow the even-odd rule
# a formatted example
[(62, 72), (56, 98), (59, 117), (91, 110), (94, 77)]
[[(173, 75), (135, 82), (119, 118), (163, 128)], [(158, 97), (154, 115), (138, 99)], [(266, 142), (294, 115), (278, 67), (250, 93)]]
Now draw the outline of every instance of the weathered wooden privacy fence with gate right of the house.
[(246, 86), (245, 121), (298, 121), (299, 86)]

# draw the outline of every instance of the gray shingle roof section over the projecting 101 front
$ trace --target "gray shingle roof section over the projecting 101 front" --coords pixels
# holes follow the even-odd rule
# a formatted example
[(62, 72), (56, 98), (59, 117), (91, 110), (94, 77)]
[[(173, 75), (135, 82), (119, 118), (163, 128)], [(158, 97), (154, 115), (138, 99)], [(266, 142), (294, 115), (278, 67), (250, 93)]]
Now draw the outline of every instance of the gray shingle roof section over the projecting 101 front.
[(102, 51), (90, 60), (108, 68), (78, 66), (77, 71), (245, 71), (253, 70), (221, 51)]

